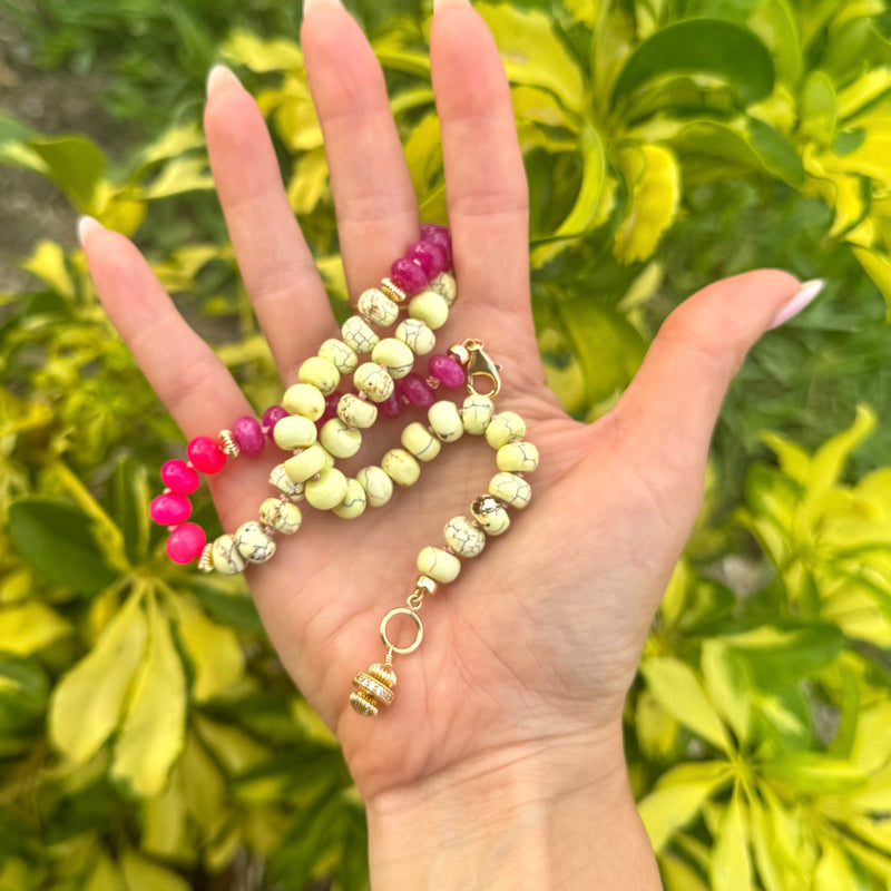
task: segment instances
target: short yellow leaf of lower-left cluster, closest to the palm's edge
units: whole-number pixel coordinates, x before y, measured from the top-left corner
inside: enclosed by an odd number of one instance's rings
[[[212,621],[186,597],[173,597],[170,604],[195,669],[195,701],[206,702],[237,684],[244,677],[244,654],[235,631]]]

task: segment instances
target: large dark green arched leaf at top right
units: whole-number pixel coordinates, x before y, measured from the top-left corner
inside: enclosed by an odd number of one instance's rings
[[[616,80],[613,105],[656,77],[684,72],[721,78],[743,102],[773,91],[773,59],[752,31],[721,19],[689,19],[660,29],[635,49]]]

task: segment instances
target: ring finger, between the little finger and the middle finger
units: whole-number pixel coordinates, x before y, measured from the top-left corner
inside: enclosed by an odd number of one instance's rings
[[[290,382],[333,316],[260,108],[223,66],[207,78],[204,130],[242,278],[278,373]]]

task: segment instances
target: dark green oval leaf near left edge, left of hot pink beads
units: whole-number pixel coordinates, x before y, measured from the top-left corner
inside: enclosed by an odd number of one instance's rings
[[[9,508],[10,537],[19,554],[53,584],[85,594],[117,578],[91,529],[89,516],[65,501],[29,497]]]

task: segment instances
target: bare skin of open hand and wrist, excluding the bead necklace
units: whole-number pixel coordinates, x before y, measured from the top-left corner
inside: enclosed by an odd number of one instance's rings
[[[356,23],[315,2],[301,38],[354,300],[417,239],[418,207]],[[527,185],[498,53],[462,2],[440,4],[430,41],[459,282],[438,351],[480,337],[502,364],[497,410],[519,412],[541,453],[531,505],[424,604],[423,645],[396,657],[396,703],[374,719],[350,708],[351,678],[382,659],[378,626],[411,593],[418,550],[440,545],[446,521],[486,490],[496,468],[484,442],[446,446],[417,487],[354,523],[305,512],[247,580],[284,665],[343,744],[369,809],[375,891],[658,888],[625,777],[623,702],[699,508],[726,385],[799,282],[757,271],[706,287],[667,320],[609,414],[567,419],[538,359]],[[286,386],[337,327],[261,114],[234,78],[212,81],[205,131]],[[252,413],[129,241],[92,229],[85,249],[109,316],[186,437]],[[376,425],[369,462],[402,425]],[[225,528],[267,497],[268,464],[239,460],[214,479]]]

